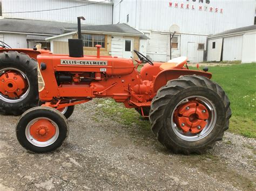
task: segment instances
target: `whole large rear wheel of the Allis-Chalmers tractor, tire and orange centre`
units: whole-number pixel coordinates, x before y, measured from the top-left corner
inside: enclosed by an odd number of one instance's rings
[[[223,138],[231,117],[224,90],[201,76],[182,76],[161,87],[150,121],[158,140],[174,153],[204,153]]]

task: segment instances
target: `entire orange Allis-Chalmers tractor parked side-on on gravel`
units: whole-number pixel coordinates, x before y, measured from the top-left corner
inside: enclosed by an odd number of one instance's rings
[[[207,70],[188,69],[185,57],[152,63],[138,51],[138,60],[100,56],[100,45],[97,56],[84,56],[80,36],[78,27],[78,39],[69,39],[69,55],[38,54],[41,106],[23,113],[16,126],[24,148],[43,153],[60,147],[74,105],[93,98],[113,98],[136,108],[149,117],[157,139],[174,153],[200,154],[223,138],[230,101]],[[69,115],[65,118],[58,110]]]

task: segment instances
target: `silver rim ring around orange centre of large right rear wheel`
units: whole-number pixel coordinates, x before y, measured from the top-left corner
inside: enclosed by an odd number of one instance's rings
[[[182,129],[180,129],[176,123],[174,122],[173,120],[173,115],[174,115],[174,112],[176,111],[176,109],[181,105],[181,104],[184,104],[184,103],[187,103],[189,101],[189,99],[196,99],[198,101],[200,101],[201,103],[203,103],[207,110],[208,110],[208,113],[209,113],[209,118],[207,121],[207,124],[206,126],[204,127],[204,129],[197,133],[197,134],[193,134],[193,133],[190,133],[190,132],[187,132],[187,133],[184,133],[182,131]],[[216,124],[216,121],[217,121],[217,113],[216,113],[216,108],[214,107],[212,101],[208,100],[207,98],[205,97],[201,97],[201,96],[191,96],[191,97],[188,97],[184,100],[181,100],[177,105],[176,107],[174,108],[174,110],[172,111],[172,115],[171,115],[171,126],[172,126],[172,129],[174,131],[174,133],[181,139],[183,140],[186,140],[186,141],[198,141],[200,139],[203,139],[205,138],[208,134],[210,134],[212,132],[212,129],[214,128],[215,124]]]

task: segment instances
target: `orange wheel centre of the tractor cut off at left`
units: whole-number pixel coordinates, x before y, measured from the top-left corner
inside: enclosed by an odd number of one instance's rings
[[[26,80],[23,76],[14,71],[4,73],[0,77],[0,93],[9,98],[16,98],[25,93]]]

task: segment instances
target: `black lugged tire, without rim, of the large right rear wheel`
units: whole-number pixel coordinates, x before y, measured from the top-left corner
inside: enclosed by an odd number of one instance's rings
[[[171,115],[180,101],[191,96],[205,97],[215,107],[217,120],[206,137],[187,141],[178,137],[171,126]],[[208,78],[202,76],[181,76],[170,80],[161,87],[152,100],[149,115],[152,131],[165,147],[174,153],[205,153],[216,141],[223,139],[231,118],[230,101],[224,90]]]

